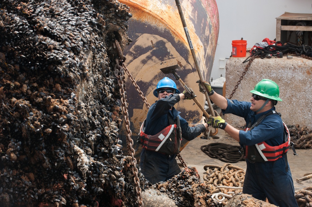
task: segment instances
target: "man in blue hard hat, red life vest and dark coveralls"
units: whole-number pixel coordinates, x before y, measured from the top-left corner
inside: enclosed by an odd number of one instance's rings
[[[181,172],[176,161],[182,137],[195,139],[208,127],[207,123],[190,127],[174,105],[181,99],[193,99],[194,92],[180,91],[173,80],[163,78],[153,94],[158,98],[147,113],[139,134],[142,144],[139,167],[152,184],[166,181]]]

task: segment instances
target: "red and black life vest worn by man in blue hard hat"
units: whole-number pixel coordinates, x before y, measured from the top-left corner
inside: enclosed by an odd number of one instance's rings
[[[146,120],[144,120],[143,124],[141,125],[139,134],[139,142],[142,144],[143,148],[145,148],[146,150],[169,155],[179,153],[182,136],[179,135],[180,134],[179,131],[181,131],[181,128],[179,127],[180,121],[178,117],[177,117],[178,126],[172,120],[174,124],[172,123],[171,125],[165,127],[155,135],[148,135],[144,133],[145,122]]]

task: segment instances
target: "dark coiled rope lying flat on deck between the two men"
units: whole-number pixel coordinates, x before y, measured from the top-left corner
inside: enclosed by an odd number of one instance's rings
[[[222,162],[236,163],[245,161],[244,155],[239,153],[241,147],[224,143],[210,143],[201,146],[201,150],[211,158],[217,158]]]

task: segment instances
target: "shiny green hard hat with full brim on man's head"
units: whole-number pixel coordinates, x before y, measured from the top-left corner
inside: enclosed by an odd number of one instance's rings
[[[262,79],[256,84],[255,89],[250,92],[268,99],[282,101],[279,97],[280,89],[278,85],[270,79]]]

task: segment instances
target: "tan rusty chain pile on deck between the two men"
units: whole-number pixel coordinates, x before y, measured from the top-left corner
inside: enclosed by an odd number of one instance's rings
[[[233,195],[242,192],[245,178],[245,171],[226,163],[223,166],[205,165],[206,174],[203,176],[207,188],[212,190],[212,198],[222,205],[227,205],[227,201]]]

